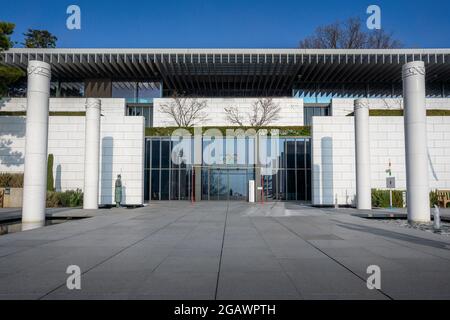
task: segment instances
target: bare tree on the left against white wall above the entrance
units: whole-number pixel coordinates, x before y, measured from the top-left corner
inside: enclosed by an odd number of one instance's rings
[[[169,115],[178,127],[192,127],[207,120],[205,112],[207,107],[206,100],[179,96],[175,93],[171,102],[160,105],[160,111]]]

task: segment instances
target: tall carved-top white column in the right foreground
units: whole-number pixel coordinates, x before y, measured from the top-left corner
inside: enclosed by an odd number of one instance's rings
[[[425,64],[406,63],[402,68],[406,190],[408,220],[430,221],[428,184],[427,116],[425,105]]]

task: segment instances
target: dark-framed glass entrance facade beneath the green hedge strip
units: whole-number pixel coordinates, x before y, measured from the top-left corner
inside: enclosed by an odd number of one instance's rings
[[[190,139],[190,138],[189,138]],[[191,140],[192,141],[192,140]],[[202,139],[202,165],[193,170],[193,144],[189,164],[173,161],[172,150],[178,141],[170,137],[147,138],[145,143],[145,200],[189,200],[196,195],[202,200],[247,200],[248,181],[261,179],[265,201],[311,200],[311,141],[310,138],[279,138],[276,144],[267,139],[268,154],[273,165],[270,172],[259,175],[254,165],[254,140],[251,137]],[[216,143],[216,148],[211,148]],[[278,152],[272,150],[274,146]],[[212,158],[215,161],[212,161]],[[218,160],[218,161],[217,161]],[[195,176],[195,172],[200,177]],[[195,190],[196,184],[200,190]]]

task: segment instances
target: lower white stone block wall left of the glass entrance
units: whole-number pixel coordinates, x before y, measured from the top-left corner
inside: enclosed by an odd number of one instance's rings
[[[102,114],[103,114],[102,110]],[[48,152],[54,155],[58,191],[83,188],[84,117],[49,118]],[[25,117],[0,117],[0,172],[23,172]],[[124,203],[143,203],[144,118],[107,116],[101,119],[99,201],[113,203],[113,185],[122,174]]]

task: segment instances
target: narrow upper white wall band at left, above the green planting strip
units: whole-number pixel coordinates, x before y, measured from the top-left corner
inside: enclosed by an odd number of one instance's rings
[[[103,98],[102,115],[124,116],[125,99]],[[50,111],[86,111],[86,98],[50,98]],[[26,98],[0,99],[0,111],[26,111]]]

